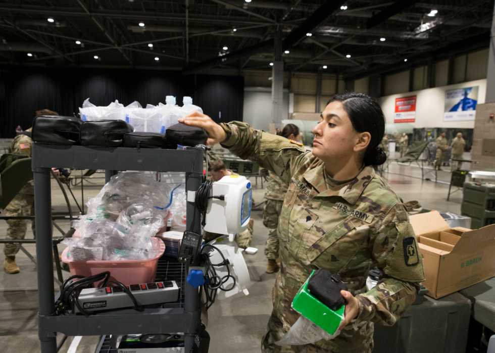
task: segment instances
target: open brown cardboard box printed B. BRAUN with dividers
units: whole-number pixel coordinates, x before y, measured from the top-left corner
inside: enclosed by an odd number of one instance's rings
[[[438,299],[495,276],[495,225],[450,228],[437,211],[409,220],[423,256],[427,295]]]

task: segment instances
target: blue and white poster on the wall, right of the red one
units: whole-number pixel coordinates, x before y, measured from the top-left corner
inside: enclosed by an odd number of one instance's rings
[[[443,121],[474,120],[478,103],[478,87],[445,91]]]

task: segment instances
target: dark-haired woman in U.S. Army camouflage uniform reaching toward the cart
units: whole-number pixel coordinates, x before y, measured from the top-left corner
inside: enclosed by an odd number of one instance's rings
[[[289,183],[278,224],[282,268],[262,351],[371,352],[373,324],[397,322],[424,280],[406,207],[372,167],[386,160],[378,147],[385,119],[376,100],[362,93],[337,94],[313,130],[312,153],[241,122],[219,126],[197,112],[179,121],[203,127],[207,143],[221,142]],[[367,290],[372,263],[383,277]],[[349,288],[341,291],[340,334],[302,346],[276,345],[300,317],[291,308],[296,292],[320,268],[338,273]]]

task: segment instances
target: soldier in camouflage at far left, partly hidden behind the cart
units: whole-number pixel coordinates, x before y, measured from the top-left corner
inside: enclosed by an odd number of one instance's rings
[[[52,112],[47,109],[36,112],[36,116],[39,115],[58,115],[56,112]],[[31,157],[31,150],[33,145],[33,140],[31,139],[31,129],[29,128],[26,132],[21,132],[12,141],[10,147],[11,153],[15,155],[22,155]],[[20,217],[20,216],[34,216],[34,182],[30,180],[23,186],[19,193],[10,201],[9,205],[5,208],[6,217]],[[8,239],[24,239],[26,236],[27,222],[26,220],[7,220],[9,227],[7,228],[7,238]],[[34,230],[34,220],[31,224],[31,229],[35,235]],[[5,262],[4,268],[5,272],[8,274],[19,273],[20,269],[16,264],[16,254],[19,248],[16,244],[5,244],[4,254]]]

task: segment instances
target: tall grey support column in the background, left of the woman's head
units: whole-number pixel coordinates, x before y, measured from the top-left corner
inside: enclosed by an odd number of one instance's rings
[[[272,67],[272,122],[281,127],[283,119],[283,61],[282,61],[282,27],[275,32],[275,61]],[[287,118],[287,117],[285,117]]]

